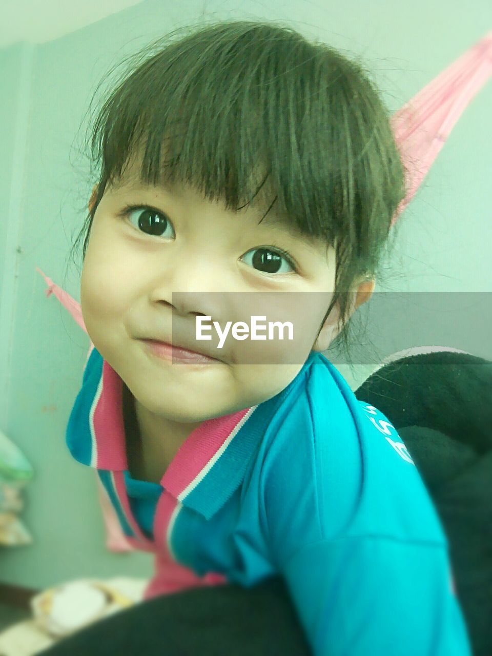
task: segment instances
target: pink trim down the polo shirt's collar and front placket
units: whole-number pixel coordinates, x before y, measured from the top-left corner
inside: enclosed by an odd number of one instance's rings
[[[207,420],[190,433],[162,477],[163,489],[155,510],[154,530],[152,537],[147,537],[133,514],[125,485],[127,456],[122,390],[123,381],[111,365],[103,360],[89,410],[91,457],[88,463],[86,459],[83,461],[92,467],[106,470],[108,474],[106,483],[112,488],[117,500],[113,510],[121,513],[124,525],[128,525],[133,533],[131,536],[123,534],[123,544],[127,550],[135,548],[154,554],[155,575],[144,597],[226,583],[222,574],[197,576],[192,569],[178,563],[172,552],[171,535],[182,504],[186,503],[188,495],[223,455],[256,406]],[[102,487],[102,493],[104,501],[108,501],[106,486]],[[111,518],[114,518],[114,514],[111,514]],[[119,550],[121,546],[118,544]]]

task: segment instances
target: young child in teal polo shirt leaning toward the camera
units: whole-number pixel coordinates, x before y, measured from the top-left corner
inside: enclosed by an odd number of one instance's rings
[[[361,66],[277,24],[192,30],[113,90],[92,148],[67,441],[154,552],[146,598],[280,575],[316,656],[469,654],[419,473],[321,354],[348,351],[405,195]],[[190,337],[252,309],[297,342]]]

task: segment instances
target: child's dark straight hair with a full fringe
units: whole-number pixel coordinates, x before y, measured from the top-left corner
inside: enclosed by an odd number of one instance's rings
[[[346,292],[377,277],[405,196],[390,115],[361,62],[278,22],[245,20],[174,30],[142,56],[92,126],[98,196],[73,248],[85,236],[85,258],[106,184],[143,144],[142,181],[178,180],[233,211],[258,203],[266,215],[276,204],[302,235],[335,247],[325,318],[338,302],[335,342],[350,361]]]

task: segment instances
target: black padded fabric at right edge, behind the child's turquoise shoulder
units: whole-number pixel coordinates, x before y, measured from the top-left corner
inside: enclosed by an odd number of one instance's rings
[[[475,656],[492,656],[492,362],[403,358],[356,391],[388,417],[434,501]]]

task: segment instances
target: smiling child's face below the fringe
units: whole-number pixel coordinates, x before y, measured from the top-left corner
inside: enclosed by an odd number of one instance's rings
[[[234,213],[188,187],[172,191],[144,187],[138,181],[138,166],[127,168],[121,184],[106,188],[92,222],[81,277],[81,308],[94,346],[136,400],[168,420],[201,422],[272,398],[295,378],[311,350],[325,350],[336,336],[337,308],[319,332],[335,286],[335,250],[327,251],[321,241],[289,234],[279,224],[269,225],[270,215],[258,224],[263,216],[259,209],[247,206]],[[95,188],[89,207],[94,199]],[[167,219],[166,223],[160,218],[167,227],[154,234],[144,222],[142,229],[144,209],[125,218],[121,216],[125,205],[154,207]],[[290,253],[297,271],[285,259],[277,273],[258,270],[258,249],[268,246],[273,252],[278,252],[277,246]],[[173,308],[173,292],[194,294],[184,295],[182,304]],[[294,363],[286,357],[292,348],[287,340],[249,340],[249,348],[261,348],[262,354],[262,363],[251,364],[244,359],[241,363],[244,342],[234,343],[230,335],[228,349],[220,352],[223,361],[207,365],[157,358],[142,341],[159,337],[170,342],[174,337],[178,343],[178,327],[195,329],[200,314],[211,316],[223,328],[226,321],[236,321],[227,314],[228,300],[246,298],[251,292],[262,293],[257,298],[277,292],[271,317],[268,304],[260,304],[260,312],[255,312],[266,316],[267,322],[276,320],[281,310],[285,316],[292,310],[296,295],[282,297],[282,293],[302,292],[298,298],[304,306],[296,308],[296,325],[302,331],[303,352]],[[203,350],[211,349],[211,342],[203,344]],[[214,356],[217,353],[209,350]]]

